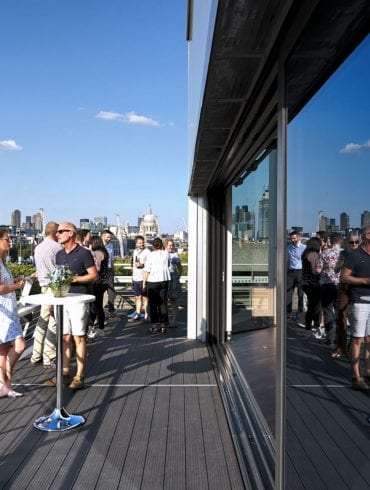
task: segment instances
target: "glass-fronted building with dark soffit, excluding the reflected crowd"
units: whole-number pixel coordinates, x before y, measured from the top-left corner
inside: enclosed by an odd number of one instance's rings
[[[368,485],[369,406],[287,317],[286,249],[292,229],[365,223],[369,21],[363,0],[188,1],[188,335],[214,357],[247,488]]]

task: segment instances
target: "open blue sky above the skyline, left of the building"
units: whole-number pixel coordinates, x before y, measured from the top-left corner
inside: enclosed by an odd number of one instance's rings
[[[0,224],[187,220],[185,0],[1,0]]]

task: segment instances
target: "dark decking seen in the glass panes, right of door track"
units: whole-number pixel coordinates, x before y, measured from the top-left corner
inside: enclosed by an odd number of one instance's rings
[[[233,337],[233,352],[274,430],[275,329]],[[351,389],[348,358],[295,321],[287,325],[287,490],[370,488],[370,390]],[[265,388],[265,389],[264,389]]]

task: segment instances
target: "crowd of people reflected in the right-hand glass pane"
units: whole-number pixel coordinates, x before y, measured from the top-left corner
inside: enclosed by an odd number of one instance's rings
[[[328,237],[320,231],[306,243],[298,232],[292,231],[287,266],[288,318],[293,317],[296,290],[298,310],[294,319],[317,339],[333,346],[333,358],[350,359],[353,389],[369,390],[370,226],[362,229],[361,236],[350,232],[346,240],[339,233]]]

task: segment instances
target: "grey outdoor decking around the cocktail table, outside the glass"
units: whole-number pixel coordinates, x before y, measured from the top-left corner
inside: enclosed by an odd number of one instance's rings
[[[207,347],[185,327],[148,333],[126,317],[89,344],[86,387],[64,407],[86,417],[65,432],[33,421],[55,407],[52,372],[16,366],[25,396],[0,400],[0,488],[242,489]]]

